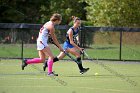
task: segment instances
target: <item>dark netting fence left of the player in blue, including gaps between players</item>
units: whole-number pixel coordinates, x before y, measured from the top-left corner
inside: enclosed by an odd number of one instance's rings
[[[0,23],[0,58],[34,58],[38,57],[36,40],[39,24],[6,24]],[[56,26],[56,36],[61,44],[65,41],[67,26]],[[53,54],[59,54],[59,49],[49,44]]]

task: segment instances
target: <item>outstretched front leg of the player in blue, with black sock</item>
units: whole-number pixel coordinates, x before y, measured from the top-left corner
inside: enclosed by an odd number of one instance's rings
[[[67,52],[69,52],[69,53],[73,54],[74,56],[76,56],[77,65],[78,65],[78,68],[80,70],[80,74],[83,74],[83,73],[85,73],[85,72],[87,72],[89,70],[89,68],[83,68],[80,53],[77,52],[77,49],[75,47],[74,48],[68,48]]]

